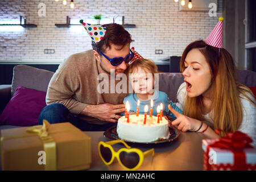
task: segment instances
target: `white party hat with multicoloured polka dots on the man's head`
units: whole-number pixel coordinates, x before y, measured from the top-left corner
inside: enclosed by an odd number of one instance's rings
[[[84,23],[82,19],[80,20],[80,23],[84,26],[94,43],[99,43],[106,33],[106,27]]]

